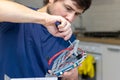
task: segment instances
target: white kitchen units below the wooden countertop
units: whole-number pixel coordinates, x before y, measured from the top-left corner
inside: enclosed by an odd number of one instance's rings
[[[96,80],[120,79],[120,46],[92,42],[81,42],[80,47],[95,56],[97,60]],[[98,55],[99,54],[99,55]],[[98,59],[97,59],[98,58]]]

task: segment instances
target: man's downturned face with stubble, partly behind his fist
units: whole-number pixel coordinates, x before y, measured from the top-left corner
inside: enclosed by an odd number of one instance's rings
[[[53,0],[54,1],[54,0]],[[48,13],[52,15],[60,15],[69,22],[72,22],[76,16],[80,15],[83,10],[76,6],[77,4],[71,0],[57,0],[48,5]]]

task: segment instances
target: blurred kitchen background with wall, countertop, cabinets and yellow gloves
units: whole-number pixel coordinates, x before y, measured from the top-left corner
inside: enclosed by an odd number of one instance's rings
[[[42,0],[14,1],[35,8],[43,5]],[[72,23],[79,47],[90,55],[86,69],[80,69],[82,80],[120,79],[119,23],[120,0],[93,0],[90,9]]]

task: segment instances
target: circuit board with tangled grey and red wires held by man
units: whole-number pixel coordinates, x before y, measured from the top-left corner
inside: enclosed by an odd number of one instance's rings
[[[49,76],[59,77],[65,71],[69,71],[79,66],[86,58],[87,54],[85,51],[78,47],[79,40],[75,40],[72,44],[73,45],[70,45],[60,52],[61,54],[55,59]]]

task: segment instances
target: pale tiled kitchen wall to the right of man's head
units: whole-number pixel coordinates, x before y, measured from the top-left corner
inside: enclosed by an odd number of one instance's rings
[[[91,8],[83,14],[82,19],[88,31],[118,31],[120,0],[93,0]]]

